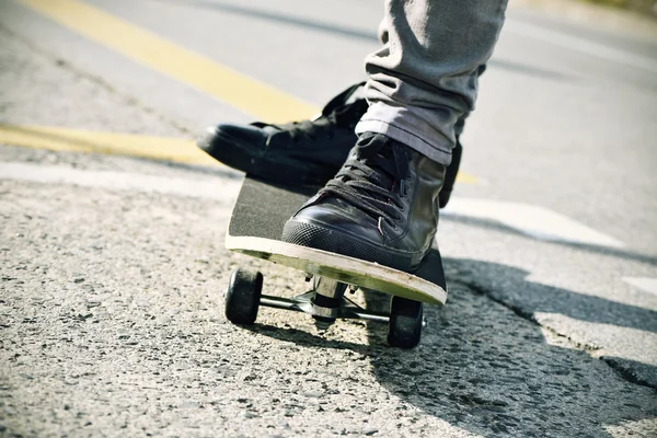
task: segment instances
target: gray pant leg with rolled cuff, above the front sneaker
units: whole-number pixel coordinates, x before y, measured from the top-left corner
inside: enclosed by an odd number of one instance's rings
[[[384,134],[449,164],[454,125],[474,110],[477,73],[493,54],[506,5],[385,0],[388,42],[366,58],[370,106],[356,132]]]

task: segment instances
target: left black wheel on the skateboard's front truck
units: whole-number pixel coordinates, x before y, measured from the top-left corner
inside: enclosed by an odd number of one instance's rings
[[[261,296],[263,275],[246,269],[235,269],[226,292],[226,318],[234,324],[249,325],[255,322]]]

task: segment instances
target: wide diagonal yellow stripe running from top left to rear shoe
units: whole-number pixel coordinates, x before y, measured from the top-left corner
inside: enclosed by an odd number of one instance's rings
[[[270,123],[309,118],[318,107],[76,0],[19,0],[36,12],[163,74]]]

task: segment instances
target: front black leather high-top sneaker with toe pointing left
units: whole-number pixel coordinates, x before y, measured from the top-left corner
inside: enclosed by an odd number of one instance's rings
[[[335,178],[284,228],[283,241],[413,272],[438,227],[446,166],[366,132]]]

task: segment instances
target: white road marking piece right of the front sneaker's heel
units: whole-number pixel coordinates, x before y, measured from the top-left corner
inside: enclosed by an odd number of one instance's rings
[[[529,204],[452,198],[441,212],[498,222],[539,240],[622,247],[623,242],[566,216]]]

